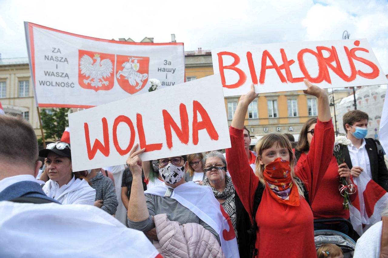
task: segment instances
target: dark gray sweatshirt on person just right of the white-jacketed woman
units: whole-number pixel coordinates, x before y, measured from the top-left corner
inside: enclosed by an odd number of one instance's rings
[[[99,172],[95,177],[90,179],[90,184],[96,190],[95,201],[102,200],[101,209],[114,215],[117,210],[118,201],[112,179]]]

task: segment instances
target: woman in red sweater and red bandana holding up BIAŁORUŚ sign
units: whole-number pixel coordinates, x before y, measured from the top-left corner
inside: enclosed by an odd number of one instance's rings
[[[334,130],[326,91],[305,81],[304,93],[318,98],[316,137],[309,157],[301,162],[298,177],[314,200],[316,189],[333,155]],[[232,147],[226,150],[228,170],[237,194],[251,221],[258,184],[264,192],[256,212],[255,248],[258,257],[316,257],[313,214],[294,178],[294,155],[289,140],[278,133],[267,134],[255,146],[256,175],[249,166],[244,148],[244,120],[251,101],[257,98],[253,85],[242,95],[230,126]]]

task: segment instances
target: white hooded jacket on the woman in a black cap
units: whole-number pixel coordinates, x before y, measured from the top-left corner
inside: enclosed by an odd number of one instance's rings
[[[62,204],[88,204],[94,205],[96,191],[85,179],[76,179],[74,176],[61,187],[51,179],[43,186],[43,192],[50,198]]]

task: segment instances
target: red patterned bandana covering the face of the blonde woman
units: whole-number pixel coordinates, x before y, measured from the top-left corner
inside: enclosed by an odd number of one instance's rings
[[[286,205],[299,206],[298,187],[293,187],[289,161],[275,159],[265,166],[263,175],[269,193],[275,200]]]

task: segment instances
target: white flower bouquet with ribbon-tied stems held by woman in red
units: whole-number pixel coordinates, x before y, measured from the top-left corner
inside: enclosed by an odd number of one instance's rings
[[[347,148],[348,145],[352,144],[352,142],[347,139],[345,136],[337,136],[334,139],[334,157],[337,159],[338,165],[341,165],[342,163],[345,162],[345,157],[342,154],[343,148]],[[338,187],[340,190],[341,195],[343,196],[343,206],[346,210],[349,210],[349,204],[350,198],[349,194],[352,194],[353,191],[353,185],[349,185],[346,182],[345,177],[341,177],[341,184],[340,187]],[[348,192],[348,189],[350,189],[350,193]]]

